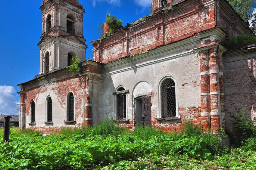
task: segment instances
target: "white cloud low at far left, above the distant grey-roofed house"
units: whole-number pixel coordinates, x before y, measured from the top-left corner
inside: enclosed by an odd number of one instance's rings
[[[2,114],[17,114],[19,111],[18,102],[14,97],[14,90],[13,86],[1,86],[0,85],[0,113]]]

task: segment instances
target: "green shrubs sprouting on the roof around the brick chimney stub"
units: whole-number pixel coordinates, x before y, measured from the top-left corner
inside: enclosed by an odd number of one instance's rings
[[[105,36],[109,36],[112,33],[114,33],[115,31],[123,28],[123,20],[118,19],[116,16],[112,16],[109,11],[106,14],[106,20],[105,22],[108,24],[109,26],[109,32],[105,35]],[[100,23],[99,28],[98,28],[98,32],[99,32],[99,38],[102,39],[104,38],[104,23]]]

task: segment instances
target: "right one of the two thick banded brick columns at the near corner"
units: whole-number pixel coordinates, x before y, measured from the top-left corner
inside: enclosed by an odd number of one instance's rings
[[[211,131],[219,132],[220,130],[220,79],[219,79],[219,56],[217,48],[210,51],[210,95],[211,95]]]

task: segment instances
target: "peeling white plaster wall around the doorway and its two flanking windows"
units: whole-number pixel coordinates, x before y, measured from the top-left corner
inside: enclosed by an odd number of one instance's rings
[[[176,55],[179,55],[176,54]],[[174,56],[173,58],[170,56]],[[136,57],[136,56],[135,56]],[[168,59],[169,58],[169,59]],[[158,113],[159,82],[165,76],[172,76],[178,83],[179,108],[200,107],[200,61],[195,52],[184,53],[183,57],[158,54],[143,60],[125,65],[109,67],[103,71],[102,88],[99,91],[101,107],[98,117],[115,117],[115,96],[112,94],[119,85],[123,85],[130,93],[127,94],[127,119],[132,118],[133,99],[138,95],[148,95],[150,89],[155,93],[152,97],[152,111]],[[139,84],[134,91],[133,89]],[[98,119],[98,123],[101,122]]]

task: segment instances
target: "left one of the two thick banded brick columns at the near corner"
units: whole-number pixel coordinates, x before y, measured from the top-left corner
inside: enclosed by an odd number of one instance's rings
[[[210,76],[208,51],[200,51],[201,124],[203,130],[211,125],[210,117]]]

